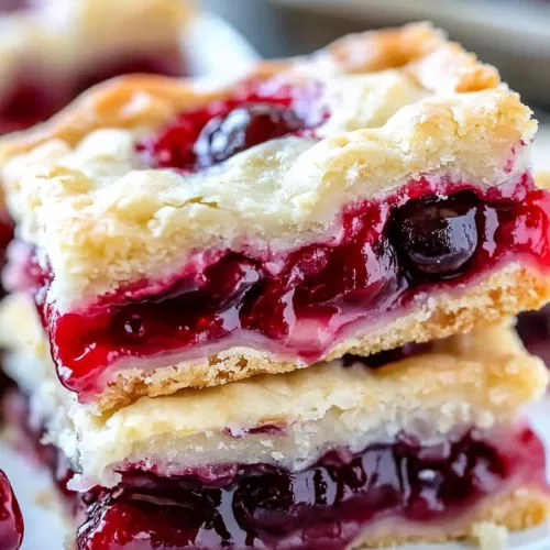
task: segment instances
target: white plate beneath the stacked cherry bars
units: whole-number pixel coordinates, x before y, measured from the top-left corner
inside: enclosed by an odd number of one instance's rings
[[[550,455],[550,398],[531,407],[529,418],[537,432],[544,440]],[[43,495],[48,487],[47,474],[25,463],[21,457],[0,446],[0,468],[13,484],[25,517],[23,550],[62,550],[65,537],[63,522],[53,508],[54,499],[46,499],[51,509],[36,504],[36,495]],[[550,469],[547,469],[550,481]],[[44,499],[42,499],[44,501]],[[46,505],[47,506],[47,505]],[[406,546],[399,550],[465,550],[466,544],[420,544]],[[508,540],[509,550],[548,550],[550,548],[550,521],[529,531],[513,534]]]

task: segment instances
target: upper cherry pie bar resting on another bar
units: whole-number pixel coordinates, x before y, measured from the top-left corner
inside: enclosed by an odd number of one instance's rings
[[[429,25],[116,79],[3,141],[4,279],[99,410],[466,332],[550,297],[530,114]]]

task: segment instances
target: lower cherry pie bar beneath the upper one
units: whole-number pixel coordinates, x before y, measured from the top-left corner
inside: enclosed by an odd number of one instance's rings
[[[21,387],[35,371],[29,417],[78,550],[485,540],[548,516],[543,447],[519,413],[548,371],[510,321],[100,416],[56,380],[28,298],[0,321]]]

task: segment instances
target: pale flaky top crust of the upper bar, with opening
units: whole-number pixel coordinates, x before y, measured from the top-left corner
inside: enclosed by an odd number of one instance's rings
[[[122,78],[2,142],[10,211],[47,257],[58,305],[166,277],[205,249],[326,241],[346,205],[411,179],[515,180],[536,130],[494,67],[428,25],[263,63],[245,82]],[[140,154],[144,136],[251,82],[263,97],[294,90],[315,130],[191,173],[151,168]]]

